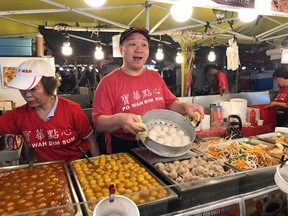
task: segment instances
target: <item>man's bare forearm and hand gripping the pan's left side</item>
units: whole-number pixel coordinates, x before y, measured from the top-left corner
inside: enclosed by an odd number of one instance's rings
[[[95,127],[99,132],[115,132],[123,130],[125,133],[136,134],[143,131],[143,128],[137,126],[135,123],[140,119],[133,113],[117,113],[114,115],[100,115],[97,118]]]

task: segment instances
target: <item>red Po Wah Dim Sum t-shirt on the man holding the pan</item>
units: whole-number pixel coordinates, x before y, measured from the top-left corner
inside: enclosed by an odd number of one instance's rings
[[[116,69],[103,77],[94,94],[93,122],[99,115],[134,113],[143,116],[154,109],[166,109],[176,96],[168,89],[162,77],[153,70],[144,69],[139,76],[130,76]],[[135,140],[123,131],[113,133],[124,140]]]

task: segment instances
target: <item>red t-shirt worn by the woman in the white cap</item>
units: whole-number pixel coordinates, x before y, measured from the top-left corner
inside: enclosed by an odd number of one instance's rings
[[[0,134],[20,134],[29,147],[35,149],[37,161],[71,160],[81,158],[76,148],[88,151],[82,140],[93,132],[79,104],[58,97],[54,116],[43,121],[34,108],[25,104],[0,116]]]

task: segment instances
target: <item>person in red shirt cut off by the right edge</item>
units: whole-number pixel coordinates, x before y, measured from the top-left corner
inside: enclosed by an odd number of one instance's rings
[[[273,73],[273,78],[279,86],[279,91],[274,99],[266,107],[277,109],[277,126],[288,126],[288,69],[285,66],[277,68]]]

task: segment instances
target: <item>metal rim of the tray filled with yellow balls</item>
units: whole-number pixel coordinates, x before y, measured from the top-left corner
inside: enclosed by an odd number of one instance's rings
[[[156,204],[159,204],[161,203],[161,206],[166,203],[168,203],[168,201],[171,201],[171,200],[175,200],[178,198],[178,195],[171,189],[169,188],[163,181],[161,181],[155,174],[153,174],[150,170],[148,170],[147,168],[145,168],[145,166],[142,165],[142,163],[140,161],[138,161],[133,155],[129,154],[129,153],[117,153],[117,154],[127,154],[129,155],[136,163],[138,163],[142,168],[145,169],[145,171],[147,171],[158,183],[160,183],[160,185],[162,186],[162,188],[165,188],[165,190],[168,192],[168,195],[165,197],[165,198],[161,198],[161,199],[156,199],[156,200],[153,200],[153,201],[148,201],[148,202],[145,202],[145,203],[142,203],[142,204],[137,204],[137,206],[140,208],[144,208],[146,206],[154,206]],[[117,154],[114,154],[114,155],[117,155]],[[90,161],[93,162],[93,159],[96,159],[96,158],[100,158],[101,156],[98,156],[98,157],[90,157]],[[76,183],[76,188],[78,189],[79,193],[80,193],[80,199],[84,202],[84,207],[85,207],[85,211],[86,211],[86,214],[88,216],[92,216],[93,215],[93,211],[89,208],[89,205],[88,205],[88,201],[86,196],[85,196],[85,193],[83,191],[83,188],[80,184],[80,181],[79,181],[79,178],[76,174],[76,171],[74,169],[74,166],[73,164],[74,163],[77,163],[77,162],[86,162],[88,163],[87,159],[78,159],[78,160],[74,160],[72,162],[70,162],[69,166],[71,168],[71,172],[72,172],[72,176],[74,177],[74,180],[75,180],[75,183]],[[129,178],[129,177],[128,177]],[[128,179],[127,178],[127,179]],[[129,179],[128,179],[129,180]],[[116,184],[116,191],[117,191],[117,184]],[[159,188],[158,188],[159,189]],[[153,190],[153,189],[151,189]],[[140,192],[140,191],[139,191]],[[122,194],[122,195],[126,195],[126,194]],[[127,194],[128,195],[128,194]],[[92,200],[90,200],[91,202]],[[95,200],[97,202],[97,200]],[[141,209],[140,209],[141,210]]]

